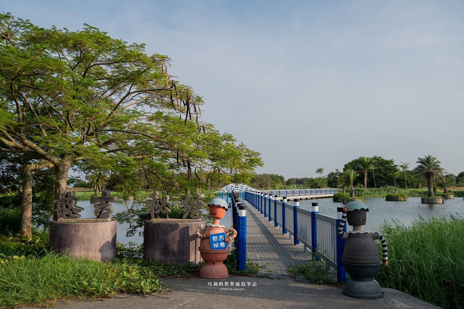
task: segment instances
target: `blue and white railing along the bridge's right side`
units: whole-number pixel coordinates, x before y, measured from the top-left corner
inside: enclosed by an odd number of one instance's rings
[[[313,190],[312,194],[316,194],[314,190],[318,190],[317,194],[325,194],[325,189],[307,190]],[[330,190],[330,193],[327,192],[327,194],[338,192],[338,189],[327,190]],[[337,191],[334,192],[333,190]],[[269,190],[269,193],[274,193],[271,196],[266,191],[264,191],[266,193],[245,191],[244,199],[256,208],[260,214],[263,214],[265,218],[273,221],[275,227],[281,228],[282,233],[288,233],[293,236],[293,243],[295,245],[302,244],[305,251],[306,249],[311,250],[312,259],[322,259],[325,263],[336,269],[338,282],[347,281],[348,274],[342,264],[342,255],[346,240],[342,240],[337,235],[343,208],[337,208],[337,218],[319,214],[317,203],[312,203],[311,211],[301,209],[298,199],[294,199],[294,202],[291,204],[287,203],[286,199],[282,199],[282,202],[278,200],[280,196],[278,194],[285,191]],[[301,193],[297,192],[298,189],[295,190],[296,192],[291,191],[293,190],[288,190],[288,196],[298,196],[298,194],[310,195],[303,194],[304,189],[301,189]],[[287,195],[282,196],[287,197]],[[346,232],[346,225],[344,226],[344,231]]]

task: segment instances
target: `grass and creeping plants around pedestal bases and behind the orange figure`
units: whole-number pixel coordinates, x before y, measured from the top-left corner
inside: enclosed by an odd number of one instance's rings
[[[157,294],[165,291],[167,277],[195,276],[201,264],[158,264],[140,259],[143,246],[118,243],[114,263],[71,259],[48,252],[43,238],[0,236],[0,308],[52,307],[59,300],[111,297],[116,293]],[[225,264],[230,273],[256,275],[262,268],[248,260],[236,271],[235,250]]]

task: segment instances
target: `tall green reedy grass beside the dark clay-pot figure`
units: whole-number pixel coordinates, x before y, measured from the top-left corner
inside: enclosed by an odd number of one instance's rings
[[[420,218],[408,227],[385,222],[380,231],[387,239],[389,258],[375,277],[382,287],[448,308],[447,281],[452,280],[458,303],[456,291],[464,284],[463,217]]]

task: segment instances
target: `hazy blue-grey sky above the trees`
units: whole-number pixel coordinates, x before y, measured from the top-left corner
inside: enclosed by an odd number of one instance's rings
[[[463,1],[9,1],[34,25],[89,24],[203,97],[203,120],[262,154],[258,173],[316,177],[361,156],[464,171]]]

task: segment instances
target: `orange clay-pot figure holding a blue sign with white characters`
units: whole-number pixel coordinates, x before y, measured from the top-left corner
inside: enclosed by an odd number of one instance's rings
[[[209,216],[213,224],[202,225],[197,228],[200,241],[200,255],[205,260],[201,266],[200,277],[219,279],[229,277],[226,265],[223,264],[229,254],[227,243],[234,240],[237,231],[231,227],[219,225],[219,219],[224,218],[229,206],[221,198],[213,198],[209,204]],[[200,232],[203,231],[203,234]]]

